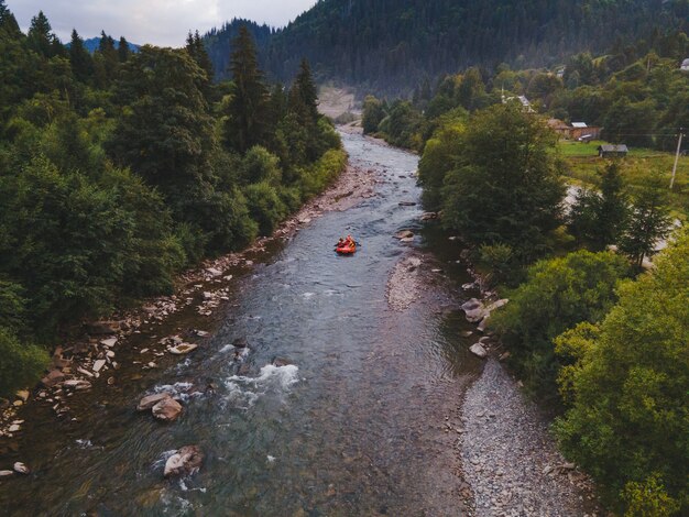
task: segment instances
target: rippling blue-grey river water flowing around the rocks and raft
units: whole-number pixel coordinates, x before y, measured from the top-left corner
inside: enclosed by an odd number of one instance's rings
[[[57,421],[31,405],[19,440],[0,443],[0,468],[20,460],[32,469],[0,482],[1,514],[464,513],[458,436],[446,420],[457,417],[480,369],[459,338],[469,327],[455,309],[466,273],[455,244],[418,222],[420,208],[400,205],[418,201],[418,158],[361,135],[342,139],[351,163],[378,176],[375,196],[256,256],[231,280],[212,337],[182,362],[162,359],[143,375],[134,363],[145,340],[175,326],[198,328],[181,316],[118,351],[114,387],[99,383],[75,395],[79,421]],[[412,245],[392,238],[405,228],[418,233]],[[362,243],[354,256],[332,253],[346,233]],[[393,310],[389,278],[409,253],[424,258],[426,287],[409,308]],[[250,346],[239,361],[238,338]],[[275,358],[292,364],[274,366]],[[197,388],[209,384],[214,391]],[[172,425],[134,409],[163,389],[184,400]],[[201,471],[164,480],[169,451],[185,444],[204,450]]]

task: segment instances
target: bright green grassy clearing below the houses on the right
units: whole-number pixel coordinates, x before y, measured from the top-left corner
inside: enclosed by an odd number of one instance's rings
[[[565,174],[578,184],[595,184],[599,170],[605,163],[598,157],[598,146],[605,143],[559,142],[558,152],[567,164]],[[630,154],[623,163],[625,165],[623,174],[630,185],[638,185],[647,174],[657,170],[667,179],[669,188],[675,154],[648,148],[630,148]],[[670,193],[670,207],[680,219],[689,218],[689,156],[679,157],[675,188]]]

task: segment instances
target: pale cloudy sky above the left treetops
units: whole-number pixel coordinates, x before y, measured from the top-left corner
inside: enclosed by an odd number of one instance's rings
[[[183,46],[189,30],[204,34],[232,18],[286,25],[316,0],[6,0],[24,32],[43,11],[66,43],[72,30],[87,40],[106,31],[136,44]]]

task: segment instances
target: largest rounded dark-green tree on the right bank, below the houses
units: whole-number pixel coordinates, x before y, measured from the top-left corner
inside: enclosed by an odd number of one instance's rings
[[[512,105],[475,113],[445,176],[444,222],[471,244],[506,244],[529,262],[560,224],[565,187],[543,121]]]

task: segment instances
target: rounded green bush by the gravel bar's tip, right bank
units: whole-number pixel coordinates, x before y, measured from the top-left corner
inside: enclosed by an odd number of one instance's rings
[[[557,393],[565,363],[555,355],[553,340],[582,321],[599,321],[615,301],[615,285],[626,273],[623,258],[586,250],[528,268],[510,304],[491,316],[491,327],[510,345],[513,365],[531,389],[546,398]]]

